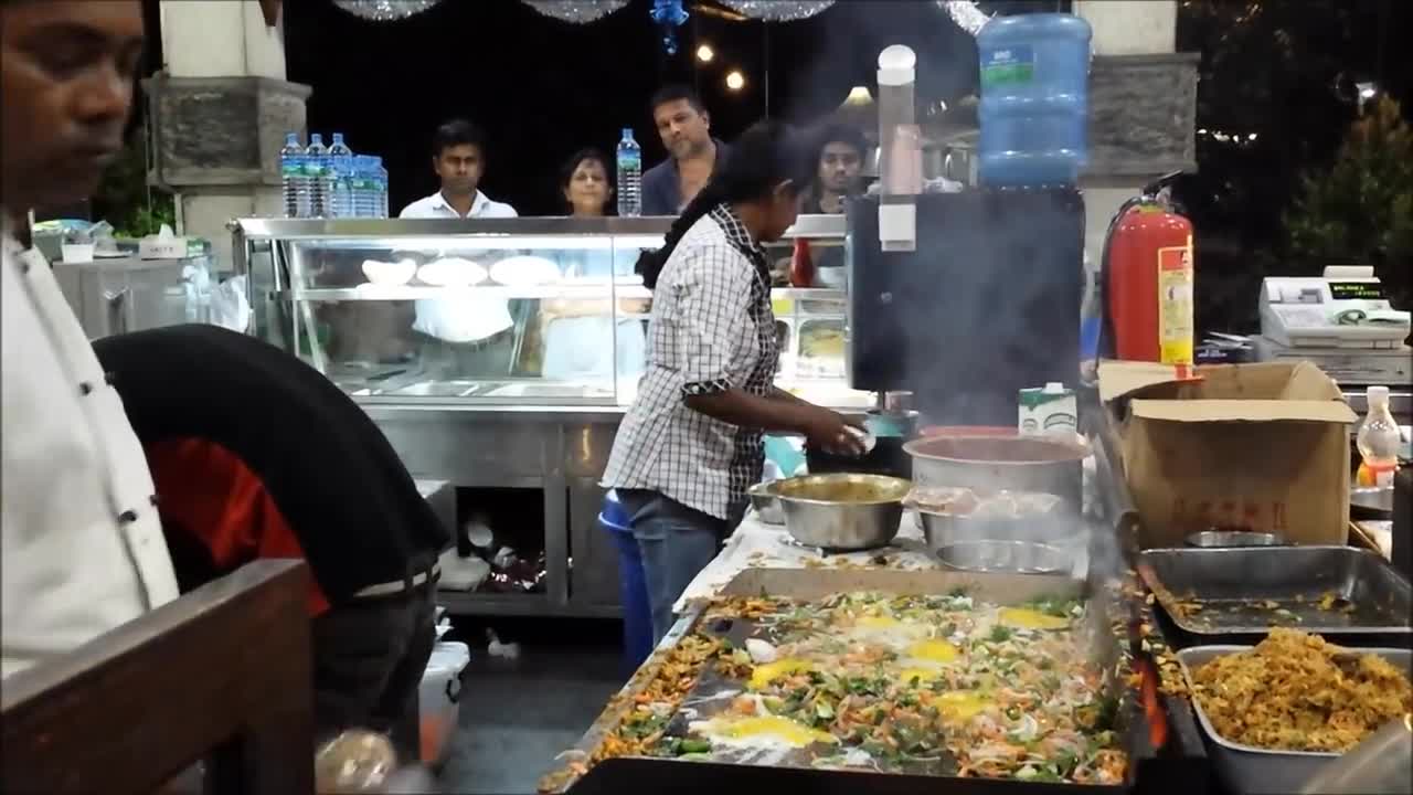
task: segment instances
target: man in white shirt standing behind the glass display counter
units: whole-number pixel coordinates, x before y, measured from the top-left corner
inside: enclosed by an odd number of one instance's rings
[[[407,205],[398,218],[516,218],[516,208],[492,201],[478,188],[486,173],[486,137],[476,124],[455,119],[437,129],[432,170],[441,190]],[[441,371],[444,378],[510,375],[514,318],[506,298],[466,294],[418,300],[413,331],[427,342],[424,366]]]

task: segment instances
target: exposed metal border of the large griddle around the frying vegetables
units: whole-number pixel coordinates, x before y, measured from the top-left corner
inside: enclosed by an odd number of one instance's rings
[[[1081,596],[1087,584],[1070,577],[1022,576],[1022,574],[978,574],[962,571],[885,571],[885,570],[793,570],[793,569],[750,569],[742,571],[723,590],[723,596],[780,596],[804,600],[822,598],[841,591],[889,591],[897,594],[947,593],[965,587],[972,594],[1000,604],[1016,604],[1040,596]],[[1105,604],[1101,601],[1101,604]],[[725,632],[728,637],[743,627],[725,622],[714,627],[702,624],[706,605],[692,608],[682,617],[654,652],[666,654],[681,638],[702,631]],[[1122,654],[1112,635],[1111,617],[1104,610],[1088,614],[1094,631],[1088,634],[1095,644],[1098,659],[1113,659],[1109,655]],[[739,639],[739,638],[733,638]],[[634,675],[623,690],[610,702],[579,743],[561,758],[586,758],[632,709],[633,697],[646,687],[653,676],[653,659]],[[1137,695],[1128,687],[1126,678],[1113,676],[1116,665],[1105,662],[1106,682],[1118,687],[1119,731],[1130,755],[1129,782],[1126,785],[1081,785],[1043,784],[1019,779],[957,778],[950,775],[928,775],[913,772],[870,772],[852,770],[814,770],[793,765],[731,764],[722,761],[684,761],[647,757],[619,757],[605,760],[592,767],[588,774],[560,781],[548,792],[569,795],[598,795],[601,792],[636,792],[673,789],[674,792],[721,792],[732,791],[784,791],[804,789],[808,792],[848,792],[851,795],[892,795],[924,792],[945,788],[954,795],[969,794],[1036,794],[1036,792],[1142,792],[1173,795],[1202,795],[1207,791],[1210,768],[1198,740],[1191,713],[1178,719],[1169,713],[1171,740],[1164,750],[1154,750],[1147,743],[1149,729]],[[694,687],[694,692],[702,686]],[[695,695],[695,693],[694,693]],[[692,699],[688,695],[687,699]],[[1190,727],[1190,729],[1188,729]],[[688,767],[690,765],[690,767]],[[545,789],[543,789],[545,791]]]

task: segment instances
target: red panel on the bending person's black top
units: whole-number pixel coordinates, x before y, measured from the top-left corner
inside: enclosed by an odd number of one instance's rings
[[[147,446],[162,523],[195,535],[220,571],[261,557],[304,559],[304,547],[260,482],[236,454],[202,439]],[[309,580],[309,615],[329,608]]]

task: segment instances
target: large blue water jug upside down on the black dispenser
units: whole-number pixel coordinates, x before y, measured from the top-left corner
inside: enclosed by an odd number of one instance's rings
[[[1078,181],[1089,160],[1091,37],[1074,14],[993,17],[976,35],[982,184]]]

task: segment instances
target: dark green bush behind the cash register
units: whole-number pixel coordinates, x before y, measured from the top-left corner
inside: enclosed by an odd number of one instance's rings
[[[1409,308],[1413,127],[1397,102],[1371,102],[1349,126],[1334,164],[1300,180],[1286,232],[1289,265],[1372,265],[1393,304]]]

